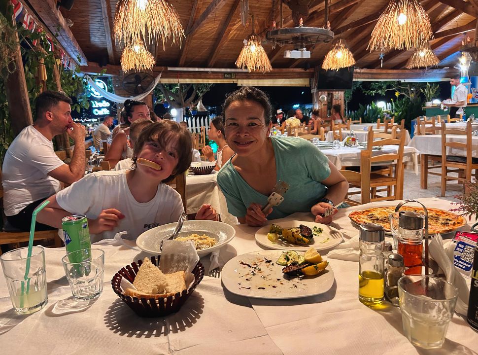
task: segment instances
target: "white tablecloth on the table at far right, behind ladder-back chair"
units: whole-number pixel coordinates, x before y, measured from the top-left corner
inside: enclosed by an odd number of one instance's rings
[[[446,135],[447,142],[466,142],[464,135]],[[442,155],[442,136],[441,135],[424,135],[413,136],[409,147],[416,148],[420,154]],[[447,148],[446,155],[466,156],[466,150]],[[478,157],[478,137],[472,137],[472,155]]]

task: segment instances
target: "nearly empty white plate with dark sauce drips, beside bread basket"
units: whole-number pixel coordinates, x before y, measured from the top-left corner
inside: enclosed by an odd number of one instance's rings
[[[287,299],[325,293],[334,284],[334,272],[330,264],[317,276],[288,280],[287,276],[282,274],[283,266],[275,263],[281,253],[280,250],[261,250],[236,256],[222,268],[223,286],[240,296]],[[266,262],[266,259],[271,262]],[[253,268],[245,264],[257,266],[255,275],[251,274]]]

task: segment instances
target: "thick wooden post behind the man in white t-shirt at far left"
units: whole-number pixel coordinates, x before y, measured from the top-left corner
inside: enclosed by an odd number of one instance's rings
[[[25,80],[25,69],[20,52],[18,33],[11,31],[10,35],[17,41],[17,49],[14,60],[10,63],[9,74],[5,80],[6,98],[9,108],[9,117],[13,134],[17,136],[25,127],[33,124],[32,110],[28,96],[27,82]]]

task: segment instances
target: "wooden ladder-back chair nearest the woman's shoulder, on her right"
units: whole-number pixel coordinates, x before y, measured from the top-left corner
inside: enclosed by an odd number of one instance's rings
[[[369,130],[367,149],[360,152],[360,172],[341,170],[342,175],[347,179],[350,187],[360,188],[361,203],[382,200],[401,200],[403,198],[403,151],[405,146],[405,135],[400,140],[386,138],[374,142],[375,133]],[[374,146],[398,145],[397,153],[387,153],[372,156]],[[390,165],[389,169],[372,171],[374,165]],[[385,187],[377,190],[378,187]],[[392,194],[393,187],[393,194]],[[376,193],[387,191],[386,196],[378,196]],[[354,193],[349,193],[349,195]]]

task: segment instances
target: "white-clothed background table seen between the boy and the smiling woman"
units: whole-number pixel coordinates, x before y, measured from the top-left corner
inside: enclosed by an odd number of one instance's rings
[[[217,174],[187,175],[186,176],[186,213],[193,214],[199,211],[203,204],[210,204],[221,220],[227,224],[238,224],[238,218],[227,210],[224,194],[217,185]]]

